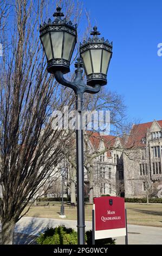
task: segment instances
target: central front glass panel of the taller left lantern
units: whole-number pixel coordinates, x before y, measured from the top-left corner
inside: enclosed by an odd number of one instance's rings
[[[53,44],[54,58],[61,59],[63,32],[51,32],[51,41]]]

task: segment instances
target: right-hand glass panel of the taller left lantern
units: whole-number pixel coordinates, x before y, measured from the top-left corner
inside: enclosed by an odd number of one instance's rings
[[[63,59],[70,61],[75,46],[75,36],[67,32],[64,34]]]

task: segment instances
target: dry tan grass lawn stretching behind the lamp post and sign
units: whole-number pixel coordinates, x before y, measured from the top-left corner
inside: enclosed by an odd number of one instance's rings
[[[61,203],[50,202],[49,208],[44,208],[43,204],[39,203],[38,206],[33,206],[27,215],[30,217],[40,218],[59,218],[59,212]],[[53,205],[54,204],[54,205]],[[92,220],[92,205],[87,205],[85,208],[86,221]],[[127,221],[128,224],[136,225],[148,225],[153,227],[162,227],[162,204],[138,204],[138,203],[126,203],[127,209]],[[69,205],[64,204],[64,213],[66,220],[76,220],[76,206],[75,209],[69,208]]]

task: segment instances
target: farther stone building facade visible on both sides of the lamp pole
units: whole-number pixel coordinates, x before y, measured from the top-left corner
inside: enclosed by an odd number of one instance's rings
[[[87,154],[91,157],[95,153],[98,154],[98,156],[92,159],[91,163],[93,168],[93,178],[91,181],[93,182],[93,197],[100,197],[103,194],[109,194],[110,196],[124,195],[124,167],[122,153],[117,150],[119,144],[121,144],[120,139],[114,136],[100,136],[99,133],[92,132],[88,137]],[[85,156],[85,158],[86,157],[87,156]],[[66,162],[66,168],[63,168],[65,166],[64,162]],[[59,169],[61,170],[62,168],[65,170],[64,197],[67,197],[70,196],[70,190],[72,189],[70,185],[72,166],[68,161],[63,160],[60,163]],[[73,177],[73,182],[74,179],[76,184],[76,175],[75,178]],[[57,182],[59,182],[59,180],[57,180]],[[90,186],[92,186],[92,184],[90,184],[90,174],[85,168],[85,197],[89,197]],[[53,195],[48,194],[48,196]]]

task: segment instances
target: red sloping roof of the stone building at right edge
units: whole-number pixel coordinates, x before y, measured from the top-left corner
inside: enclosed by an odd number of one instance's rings
[[[162,120],[157,121],[157,123],[162,128]],[[127,148],[145,147],[146,133],[151,128],[152,124],[153,124],[153,121],[149,123],[133,125],[126,147]]]

